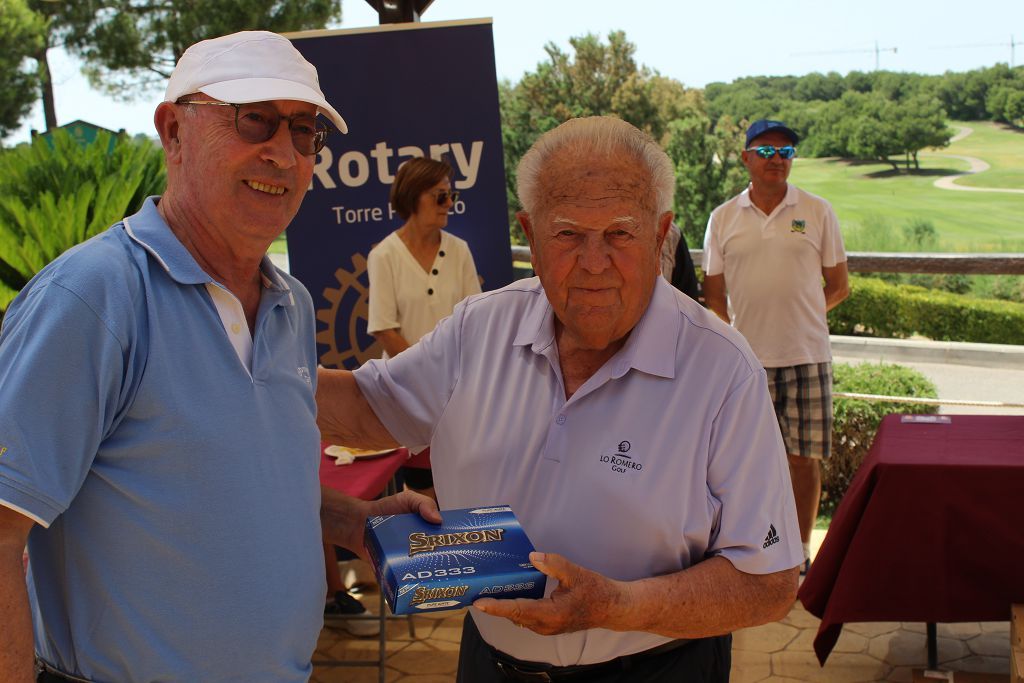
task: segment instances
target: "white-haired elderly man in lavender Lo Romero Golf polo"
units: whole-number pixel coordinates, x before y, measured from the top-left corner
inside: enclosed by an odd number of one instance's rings
[[[538,278],[471,296],[399,355],[321,370],[346,443],[431,447],[443,508],[509,504],[548,577],[477,600],[459,680],[725,681],[731,631],[780,618],[800,532],[765,372],[659,276],[673,168],[613,118],[522,158]]]

